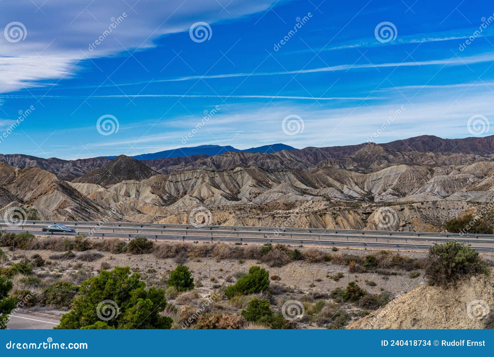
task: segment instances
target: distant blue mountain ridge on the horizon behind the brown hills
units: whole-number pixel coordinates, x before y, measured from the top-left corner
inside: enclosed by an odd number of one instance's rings
[[[134,159],[138,160],[151,160],[151,159],[165,159],[165,158],[177,158],[177,157],[188,157],[192,155],[220,155],[228,151],[233,152],[247,152],[247,153],[274,153],[275,151],[281,150],[298,150],[294,147],[285,144],[273,144],[264,145],[257,148],[250,148],[246,150],[235,149],[233,146],[220,146],[220,145],[201,145],[191,148],[179,148],[173,150],[159,151],[157,153],[142,154],[137,156],[132,156]],[[106,156],[108,159],[115,159],[116,156]]]

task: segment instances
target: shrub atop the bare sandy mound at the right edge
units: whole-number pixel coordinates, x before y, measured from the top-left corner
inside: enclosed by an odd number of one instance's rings
[[[461,278],[476,273],[489,274],[479,253],[474,249],[455,241],[430,248],[425,269],[429,283],[450,286]]]

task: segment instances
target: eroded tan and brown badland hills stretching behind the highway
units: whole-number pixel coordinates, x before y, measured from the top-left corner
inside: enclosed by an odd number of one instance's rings
[[[167,159],[0,156],[0,214],[41,219],[441,231],[494,199],[494,136]],[[301,208],[302,207],[302,208]],[[377,224],[380,210],[392,222]],[[288,217],[288,218],[287,218]]]

